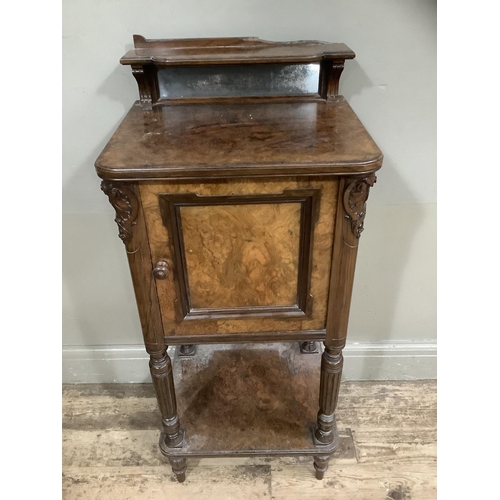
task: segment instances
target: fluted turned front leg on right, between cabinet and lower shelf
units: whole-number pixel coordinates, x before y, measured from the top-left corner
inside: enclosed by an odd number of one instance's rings
[[[342,349],[325,346],[321,358],[318,424],[314,431],[314,438],[318,444],[330,444],[334,439],[335,408],[339,396],[342,365]]]

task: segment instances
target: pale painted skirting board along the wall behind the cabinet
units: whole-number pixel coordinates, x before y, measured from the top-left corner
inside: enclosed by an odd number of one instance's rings
[[[177,349],[169,348],[172,356]],[[352,342],[343,351],[344,380],[419,380],[437,378],[437,344]],[[304,354],[304,356],[319,355]],[[65,384],[149,383],[149,356],[141,345],[64,346]]]

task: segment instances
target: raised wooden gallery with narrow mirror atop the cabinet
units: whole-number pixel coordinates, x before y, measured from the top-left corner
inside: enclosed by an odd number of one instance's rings
[[[327,100],[338,95],[345,60],[355,57],[343,43],[255,37],[134,35],[134,47],[120,62],[132,67],[145,111],[176,101]]]

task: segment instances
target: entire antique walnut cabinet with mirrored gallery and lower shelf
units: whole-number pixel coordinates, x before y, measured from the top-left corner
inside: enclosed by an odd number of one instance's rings
[[[130,264],[161,451],[179,481],[186,457],[255,454],[312,455],[321,479],[382,165],[338,94],[354,53],[256,38],[134,43],[121,62],[140,101],[95,166]]]

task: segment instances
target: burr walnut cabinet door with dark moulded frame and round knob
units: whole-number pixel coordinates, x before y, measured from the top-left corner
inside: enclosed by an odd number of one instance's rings
[[[324,330],[337,191],[335,178],[142,184],[165,335]]]

